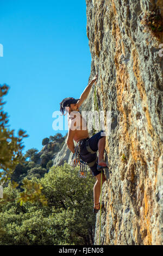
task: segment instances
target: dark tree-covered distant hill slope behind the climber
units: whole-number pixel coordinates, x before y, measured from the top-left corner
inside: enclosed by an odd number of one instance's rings
[[[61,133],[57,133],[43,139],[43,147],[40,151],[36,148],[26,151],[24,162],[17,164],[11,176],[11,180],[19,184],[18,188],[21,188],[24,178],[32,179],[36,177],[40,179],[49,171],[49,168],[53,166],[55,157],[62,150],[66,137],[67,134],[63,137]]]

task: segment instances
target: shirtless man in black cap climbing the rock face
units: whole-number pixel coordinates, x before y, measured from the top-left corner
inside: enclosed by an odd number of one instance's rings
[[[91,138],[89,138],[89,132],[86,127],[86,121],[82,117],[82,115],[77,113],[79,111],[79,107],[82,105],[84,100],[90,93],[91,87],[93,83],[96,82],[98,75],[96,75],[92,81],[85,88],[84,92],[80,96],[80,99],[74,99],[72,97],[67,97],[60,102],[60,111],[64,114],[64,111],[68,113],[68,135],[67,135],[67,147],[74,154],[74,141],[80,143],[80,158],[92,165],[90,169],[92,170],[93,176],[96,177],[96,183],[93,187],[93,198],[94,198],[94,208],[93,212],[96,214],[100,209],[99,197],[101,192],[101,172],[97,169],[99,166],[106,167],[106,162],[103,159],[104,149],[105,149],[105,136],[101,135],[101,132],[96,133]],[[74,118],[77,115],[80,118],[80,127],[77,126],[77,121],[74,123]],[[72,115],[71,115],[72,114]],[[77,120],[77,119],[76,119]],[[76,126],[76,129],[74,129]],[[73,127],[73,129],[71,129]],[[89,142],[89,146],[93,153],[90,153],[86,149],[86,141]],[[98,151],[98,157],[97,152]],[[98,159],[98,163],[97,163]],[[104,173],[102,173],[102,184],[105,181]]]

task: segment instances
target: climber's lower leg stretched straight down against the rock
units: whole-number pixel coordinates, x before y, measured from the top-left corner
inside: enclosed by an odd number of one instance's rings
[[[99,197],[101,192],[101,173],[95,176],[97,181],[93,187],[93,196],[94,196],[94,208],[100,209],[99,205]],[[102,185],[104,181],[106,180],[104,173],[102,173]]]

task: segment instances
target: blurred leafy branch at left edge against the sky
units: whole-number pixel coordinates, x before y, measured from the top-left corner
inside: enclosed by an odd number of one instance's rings
[[[10,179],[17,164],[24,161],[22,139],[28,137],[25,135],[26,131],[21,129],[18,131],[18,137],[15,137],[14,130],[8,128],[8,114],[3,110],[6,103],[3,102],[3,96],[8,93],[8,89],[9,86],[0,85],[0,169],[3,170],[0,173],[0,185]]]

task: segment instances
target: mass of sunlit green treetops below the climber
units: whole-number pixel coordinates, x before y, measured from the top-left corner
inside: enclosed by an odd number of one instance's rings
[[[73,169],[65,163],[64,166],[53,166],[41,179],[30,180],[42,192],[44,204],[40,197],[35,200],[29,195],[27,198],[28,182],[22,206],[18,200],[20,192],[11,185],[4,188],[11,200],[0,204],[4,230],[0,233],[0,245],[92,245],[95,180],[90,173],[86,179],[79,179],[78,168]]]

